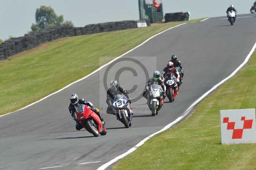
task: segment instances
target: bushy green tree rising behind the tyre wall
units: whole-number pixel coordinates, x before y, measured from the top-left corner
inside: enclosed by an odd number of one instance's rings
[[[51,6],[40,6],[36,9],[36,24],[32,24],[32,31],[39,31],[44,28],[53,28],[57,26],[71,26],[71,21],[64,21],[63,15],[57,16]]]

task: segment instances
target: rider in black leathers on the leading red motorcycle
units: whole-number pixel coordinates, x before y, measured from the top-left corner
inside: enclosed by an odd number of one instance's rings
[[[100,110],[96,107],[93,106],[93,104],[91,102],[88,102],[86,100],[84,100],[83,98],[82,99],[79,99],[77,94],[71,94],[70,97],[70,104],[68,106],[68,110],[71,114],[71,117],[73,120],[76,121],[76,130],[81,130],[82,128],[84,128],[78,121],[77,121],[77,118],[76,118],[76,115],[75,115],[75,112],[76,112],[76,109],[75,109],[75,105],[77,105],[78,103],[79,104],[84,104],[84,105],[87,105],[90,107],[90,109],[95,112],[99,117],[100,117],[100,120],[102,121],[103,124],[105,124],[105,122],[103,122],[103,118],[100,116]]]

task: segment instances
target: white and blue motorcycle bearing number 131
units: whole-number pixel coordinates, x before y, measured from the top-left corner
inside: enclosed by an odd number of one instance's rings
[[[116,118],[124,124],[124,127],[132,126],[131,104],[128,99],[123,95],[116,95],[112,105]]]

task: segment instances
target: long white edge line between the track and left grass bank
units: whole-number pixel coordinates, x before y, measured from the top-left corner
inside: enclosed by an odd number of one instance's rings
[[[19,109],[19,110],[16,110],[16,111],[14,111],[14,112],[17,112],[17,111],[26,109],[27,107],[29,107],[29,106],[31,106],[31,105],[33,105],[33,104],[36,104],[36,103],[38,103],[38,102],[40,102],[40,101],[42,101],[42,100],[44,100],[44,99],[46,99],[46,98],[48,98],[48,97],[50,97],[50,96],[56,94],[56,93],[59,93],[60,91],[62,91],[62,90],[64,90],[64,89],[68,88],[69,86],[71,86],[71,85],[73,85],[73,84],[75,84],[75,83],[77,83],[77,82],[79,82],[79,81],[82,81],[82,80],[86,79],[87,77],[89,77],[90,75],[92,75],[92,74],[98,72],[99,70],[101,70],[101,69],[104,68],[105,66],[108,66],[109,64],[111,64],[111,63],[113,63],[114,61],[116,61],[118,58],[123,57],[125,54],[128,54],[129,52],[131,52],[131,51],[133,51],[133,50],[139,48],[141,45],[147,43],[149,40],[151,40],[152,38],[156,37],[157,35],[160,35],[160,34],[164,33],[165,31],[168,31],[168,30],[170,30],[170,29],[172,29],[172,28],[179,27],[179,26],[184,25],[184,24],[187,24],[187,23],[182,23],[182,24],[176,25],[176,26],[174,26],[174,27],[170,27],[170,28],[168,28],[168,29],[166,29],[166,30],[164,30],[164,31],[162,31],[162,32],[160,32],[160,33],[157,33],[156,35],[153,35],[153,36],[149,37],[147,40],[145,40],[145,41],[142,42],[141,44],[139,44],[139,45],[137,45],[136,47],[134,47],[133,49],[131,49],[131,50],[125,52],[125,53],[122,54],[121,56],[114,58],[113,60],[109,61],[107,64],[104,64],[103,66],[101,66],[101,67],[99,67],[98,69],[94,70],[92,73],[86,75],[85,77],[83,77],[83,78],[81,78],[81,79],[79,79],[79,80],[77,80],[77,81],[74,81],[74,82],[68,84],[67,86],[63,87],[62,89],[60,89],[60,90],[58,90],[58,91],[56,91],[56,92],[54,92],[54,93],[52,93],[52,94],[50,94],[50,95],[48,95],[48,96],[42,98],[42,99],[40,99],[40,100],[38,100],[38,101],[36,101],[36,102],[34,102],[34,103],[28,104],[27,106],[25,106],[25,107],[23,107],[23,108],[21,108],[21,109]],[[0,117],[5,116],[5,115],[7,115],[7,114],[11,114],[11,113],[13,113],[13,112],[6,113],[6,114],[4,114],[4,115],[0,115]]]

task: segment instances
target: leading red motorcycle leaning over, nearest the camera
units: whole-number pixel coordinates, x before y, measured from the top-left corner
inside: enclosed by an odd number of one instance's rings
[[[94,113],[87,105],[77,104],[76,118],[81,125],[92,135],[98,137],[100,135],[106,135],[107,129],[100,121],[99,116]]]

